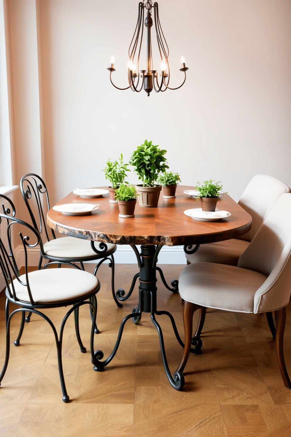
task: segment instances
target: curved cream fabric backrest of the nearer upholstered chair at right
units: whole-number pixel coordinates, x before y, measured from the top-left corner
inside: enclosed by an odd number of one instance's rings
[[[238,267],[267,276],[254,296],[254,312],[288,304],[291,294],[291,194],[281,194],[259,231],[242,253]]]

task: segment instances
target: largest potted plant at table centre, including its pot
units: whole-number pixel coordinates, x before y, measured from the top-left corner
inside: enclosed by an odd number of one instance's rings
[[[130,157],[130,165],[135,167],[138,179],[142,180],[142,184],[136,185],[141,207],[157,207],[162,186],[155,182],[159,173],[164,173],[169,168],[164,157],[165,153],[167,150],[161,150],[158,146],[154,146],[152,141],[145,140]]]

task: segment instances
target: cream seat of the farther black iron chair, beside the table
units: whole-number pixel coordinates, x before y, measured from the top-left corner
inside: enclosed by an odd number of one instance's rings
[[[96,248],[99,248],[98,243],[95,243]],[[106,256],[115,252],[116,244],[106,243]],[[44,244],[44,253],[49,257],[55,258],[90,258],[96,257],[96,252],[92,250],[91,242],[75,237],[60,237]],[[101,249],[100,249],[101,250]]]

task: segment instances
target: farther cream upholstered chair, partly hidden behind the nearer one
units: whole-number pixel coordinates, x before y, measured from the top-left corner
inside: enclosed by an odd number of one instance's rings
[[[238,201],[238,204],[252,217],[252,227],[249,232],[238,239],[229,239],[218,243],[200,245],[193,254],[185,254],[187,264],[210,262],[237,266],[240,255],[246,250],[260,225],[267,216],[274,203],[283,193],[290,193],[291,189],[280,180],[265,174],[254,176]],[[199,323],[195,336],[201,334],[206,309],[201,309]],[[273,337],[275,336],[272,313],[267,313],[267,320]]]

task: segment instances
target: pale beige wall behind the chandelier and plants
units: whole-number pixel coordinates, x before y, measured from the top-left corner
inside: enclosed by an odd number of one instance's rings
[[[4,3],[14,184],[42,173],[54,203],[105,185],[106,160],[148,139],[183,184],[221,180],[236,200],[257,173],[291,185],[289,0],[160,0],[172,86],[181,55],[189,71],[180,90],[150,97],[114,89],[106,70],[114,54],[126,86],[137,0]]]

